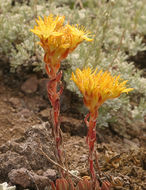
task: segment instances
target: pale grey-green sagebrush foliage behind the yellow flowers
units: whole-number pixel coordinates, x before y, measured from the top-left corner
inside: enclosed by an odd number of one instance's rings
[[[25,2],[25,1],[24,1]],[[131,115],[133,119],[143,120],[145,113],[146,79],[141,76],[130,56],[146,50],[143,37],[146,35],[146,4],[144,0],[58,0],[28,1],[29,5],[10,0],[0,2],[0,58],[9,60],[11,71],[22,67],[43,70],[42,49],[36,45],[38,39],[30,32],[34,26],[34,17],[53,13],[65,15],[71,24],[86,26],[94,35],[92,43],[81,44],[66,60],[64,80],[67,88],[79,93],[72,81],[71,72],[77,67],[92,66],[109,70],[113,75],[120,74],[129,80],[129,86],[135,90],[131,96],[122,95],[120,99],[106,102],[100,109],[98,125],[108,126],[115,121],[116,114]],[[64,63],[62,63],[64,64]],[[140,98],[137,99],[137,96]],[[132,104],[131,104],[132,102]],[[86,110],[83,109],[83,112]],[[127,118],[127,117],[126,117]],[[125,118],[125,119],[126,119]]]

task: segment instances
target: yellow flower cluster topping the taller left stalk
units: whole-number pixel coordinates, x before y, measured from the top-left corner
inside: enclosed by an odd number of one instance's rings
[[[39,38],[39,44],[48,54],[51,64],[56,64],[66,58],[82,41],[92,41],[90,32],[78,26],[64,25],[64,16],[49,15],[44,20],[39,17],[37,26],[31,29]]]

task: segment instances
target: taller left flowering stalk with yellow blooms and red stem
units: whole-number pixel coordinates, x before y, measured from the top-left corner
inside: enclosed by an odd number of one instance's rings
[[[52,105],[53,136],[56,144],[56,158],[63,166],[61,151],[61,129],[60,129],[60,95],[63,92],[61,83],[62,72],[59,72],[60,63],[84,40],[92,41],[88,38],[89,32],[83,27],[64,25],[64,16],[49,15],[44,20],[39,17],[37,26],[31,29],[39,38],[39,44],[45,51],[44,62],[46,73],[50,79],[47,84],[48,98]],[[59,87],[59,91],[58,91]],[[63,170],[61,175],[64,176]]]

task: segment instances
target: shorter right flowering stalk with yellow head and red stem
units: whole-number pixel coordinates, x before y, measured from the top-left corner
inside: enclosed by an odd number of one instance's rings
[[[96,119],[99,107],[108,99],[117,98],[121,93],[129,92],[132,88],[126,88],[127,81],[121,82],[120,76],[111,76],[109,72],[93,72],[91,68],[76,69],[76,74],[72,73],[71,79],[76,83],[83,94],[84,104],[89,109],[85,117],[88,127],[87,143],[89,146],[89,168],[92,179],[92,187],[96,189],[96,175],[93,163],[94,143],[96,141]],[[89,120],[89,121],[88,121]],[[96,158],[97,159],[97,158]],[[109,189],[110,184],[103,182],[101,189]]]

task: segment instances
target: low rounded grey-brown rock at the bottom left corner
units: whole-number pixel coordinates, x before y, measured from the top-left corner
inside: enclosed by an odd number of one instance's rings
[[[15,185],[23,188],[36,188],[45,189],[49,186],[49,179],[45,176],[40,176],[25,168],[14,169],[9,174],[9,180]]]

